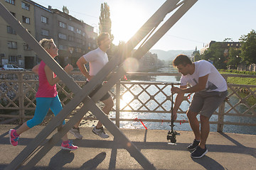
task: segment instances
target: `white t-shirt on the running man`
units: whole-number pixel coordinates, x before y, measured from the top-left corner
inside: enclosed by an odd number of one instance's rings
[[[107,53],[100,50],[99,47],[95,50],[88,52],[82,57],[85,58],[86,62],[89,62],[90,76],[95,76],[97,72],[99,72],[100,69],[102,69],[102,67],[104,67],[105,64],[107,64],[108,62]]]

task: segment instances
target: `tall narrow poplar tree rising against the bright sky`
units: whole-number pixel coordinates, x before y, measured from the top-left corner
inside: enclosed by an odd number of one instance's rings
[[[101,4],[100,8],[100,33],[109,33],[110,38],[113,39],[114,36],[111,34],[111,19],[110,19],[110,6],[107,5],[107,2]]]

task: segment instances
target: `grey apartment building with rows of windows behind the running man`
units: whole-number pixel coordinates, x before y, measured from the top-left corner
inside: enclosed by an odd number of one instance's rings
[[[58,61],[60,65],[73,64],[79,57],[94,50],[97,33],[93,33],[93,27],[89,26],[77,18],[63,13],[58,9],[53,11],[53,30],[55,43],[59,48]]]

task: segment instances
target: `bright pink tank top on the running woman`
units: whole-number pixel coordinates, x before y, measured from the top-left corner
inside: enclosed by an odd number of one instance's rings
[[[45,66],[46,63],[41,61],[38,69],[39,86],[38,91],[36,93],[36,98],[54,98],[58,94],[56,84],[50,86],[50,84],[48,83],[48,80],[46,78],[46,72],[44,70]],[[56,77],[55,74],[54,77]]]

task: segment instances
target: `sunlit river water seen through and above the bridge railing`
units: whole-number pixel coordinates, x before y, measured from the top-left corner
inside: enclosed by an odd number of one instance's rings
[[[176,73],[176,69],[172,68],[172,67],[163,67],[159,70],[157,70],[157,72],[168,72],[168,73]],[[145,77],[145,78],[140,78],[140,81],[163,81],[163,82],[171,82],[171,83],[178,83],[180,81],[180,77],[175,77],[175,76],[156,76],[156,77]],[[138,81],[138,80],[136,80]],[[137,89],[136,87],[133,88],[133,91],[135,91],[134,93],[137,93]],[[139,89],[138,89],[139,91]],[[164,89],[165,93],[170,95],[171,92],[170,90]],[[150,91],[150,94],[155,94],[156,91]],[[140,98],[141,100],[147,100],[145,95],[142,95],[142,98]],[[123,98],[126,98],[129,100],[129,98],[132,98],[132,95],[124,94]],[[176,96],[174,95],[174,98]],[[166,98],[165,96],[158,96],[159,101],[163,100],[163,98]],[[230,97],[230,103],[237,103],[238,102],[238,98],[235,96]],[[189,99],[189,101],[191,101],[191,98]],[[124,103],[120,103],[120,106],[122,108],[122,106],[124,105]],[[134,108],[136,108],[137,103],[133,102],[132,106]],[[154,108],[154,103],[150,103],[149,107],[152,106]],[[186,111],[188,109],[189,103],[188,102],[183,102],[181,103],[181,110],[182,111]],[[171,110],[171,102],[169,103],[164,103],[163,105],[164,108],[166,108],[167,111]],[[230,106],[228,106],[228,104],[225,104],[225,111],[228,111],[228,109],[230,108]],[[238,106],[236,109],[238,109],[238,111],[240,111],[241,113],[243,113],[245,111],[245,106]],[[217,110],[218,111],[218,110]],[[110,117],[114,118],[115,113],[110,113]],[[129,118],[129,119],[159,119],[159,120],[170,120],[171,119],[171,114],[170,113],[129,113],[129,112],[125,112],[125,113],[120,113],[120,118]],[[184,120],[188,120],[186,114],[178,114],[178,118],[177,120],[181,120],[179,123],[174,123],[176,126],[174,127],[174,130],[189,130],[191,131],[191,127],[188,123],[183,123]],[[198,115],[198,120],[199,120],[199,115]],[[217,122],[218,121],[218,115],[212,115],[210,118],[210,121],[214,121]],[[239,122],[239,123],[256,123],[256,118],[245,118],[245,117],[238,117],[238,116],[228,116],[225,115],[224,117],[224,121],[227,122]],[[154,123],[154,122],[144,122],[144,125],[146,126],[146,128],[148,129],[154,129],[154,130],[170,130],[170,123]],[[140,121],[122,121],[120,122],[120,128],[130,128],[130,129],[143,129],[144,125],[142,125],[142,123]],[[210,125],[210,131],[211,132],[216,132],[217,131],[217,125]],[[242,125],[224,125],[223,128],[223,132],[235,132],[235,133],[242,133],[242,134],[252,134],[252,135],[256,135],[256,127],[255,126],[242,126]]]

